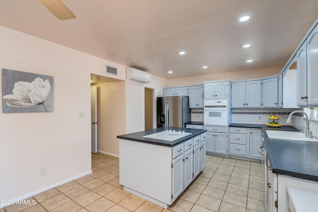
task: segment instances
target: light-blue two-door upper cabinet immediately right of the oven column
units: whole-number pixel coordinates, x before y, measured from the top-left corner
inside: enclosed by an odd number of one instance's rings
[[[232,108],[261,107],[261,80],[232,82]]]

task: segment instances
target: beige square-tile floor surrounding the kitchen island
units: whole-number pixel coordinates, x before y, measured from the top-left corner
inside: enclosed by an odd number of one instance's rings
[[[124,191],[119,159],[97,153],[92,174],[27,199],[35,205],[11,205],[0,212],[264,212],[262,164],[209,155],[206,161],[168,210]]]

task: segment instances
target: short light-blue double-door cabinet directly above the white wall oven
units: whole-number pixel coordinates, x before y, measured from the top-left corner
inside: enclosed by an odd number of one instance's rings
[[[227,99],[230,81],[203,82],[204,99]]]

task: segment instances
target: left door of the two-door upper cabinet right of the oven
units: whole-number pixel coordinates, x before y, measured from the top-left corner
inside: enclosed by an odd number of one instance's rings
[[[231,85],[232,107],[245,107],[245,82],[233,82]]]

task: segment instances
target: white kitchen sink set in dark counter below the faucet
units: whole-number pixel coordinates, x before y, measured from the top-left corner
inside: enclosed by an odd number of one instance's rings
[[[270,139],[286,139],[286,140],[296,140],[296,141],[318,142],[318,139],[307,138],[305,133],[300,133],[300,132],[266,130],[266,133],[268,138]]]

